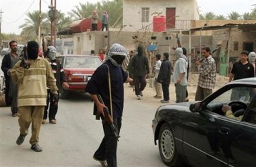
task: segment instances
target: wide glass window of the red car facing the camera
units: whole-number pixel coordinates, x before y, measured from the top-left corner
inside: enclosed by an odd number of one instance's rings
[[[97,68],[102,62],[94,56],[66,56],[64,68]]]

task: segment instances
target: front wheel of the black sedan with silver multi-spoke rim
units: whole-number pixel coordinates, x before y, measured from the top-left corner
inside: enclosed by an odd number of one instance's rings
[[[164,164],[167,166],[179,166],[182,164],[175,147],[174,135],[167,123],[164,123],[160,129],[158,148]]]

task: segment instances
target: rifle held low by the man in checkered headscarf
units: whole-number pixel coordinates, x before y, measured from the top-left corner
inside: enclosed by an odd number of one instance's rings
[[[97,95],[97,97],[98,97],[98,100],[100,101],[100,103],[104,104],[102,97],[100,95]],[[113,130],[115,136],[119,137],[119,131],[114,124],[113,118],[111,117],[111,115],[108,111],[108,108],[104,108],[103,111],[104,111],[105,117],[104,117],[102,123],[107,122],[110,125],[111,129]],[[100,115],[98,114],[98,112],[96,113],[96,119],[100,119]]]

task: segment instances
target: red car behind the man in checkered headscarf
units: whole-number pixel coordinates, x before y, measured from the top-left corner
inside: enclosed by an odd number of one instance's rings
[[[66,99],[70,91],[84,92],[94,70],[102,64],[98,56],[60,55],[57,60],[63,66],[69,89],[61,89],[60,98]]]

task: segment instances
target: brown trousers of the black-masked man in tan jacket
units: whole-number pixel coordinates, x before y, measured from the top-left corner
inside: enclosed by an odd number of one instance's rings
[[[39,141],[40,127],[44,115],[44,106],[22,106],[18,109],[18,122],[20,125],[20,134],[27,135],[28,128],[32,122],[32,135],[30,144],[36,144]]]

